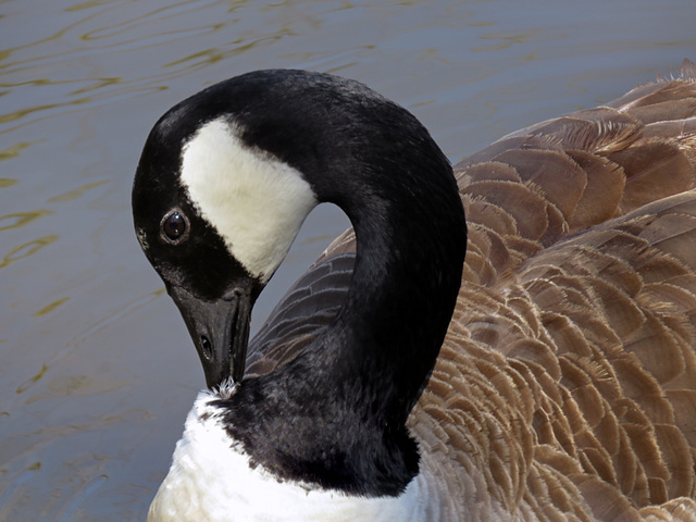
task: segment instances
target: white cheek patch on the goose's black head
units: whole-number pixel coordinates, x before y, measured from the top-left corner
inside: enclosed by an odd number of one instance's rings
[[[318,201],[297,170],[237,134],[222,119],[203,125],[182,150],[181,178],[232,254],[265,283]]]

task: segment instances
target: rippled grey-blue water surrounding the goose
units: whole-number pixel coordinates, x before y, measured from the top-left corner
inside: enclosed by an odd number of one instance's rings
[[[262,67],[360,79],[452,160],[696,59],[693,0],[1,2],[0,520],[144,520],[202,372],[139,251],[152,123]],[[262,296],[343,231],[319,209]]]

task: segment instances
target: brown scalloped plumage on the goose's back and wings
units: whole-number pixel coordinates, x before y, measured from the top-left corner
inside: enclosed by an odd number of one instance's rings
[[[696,521],[696,66],[455,170],[467,263],[409,420],[443,520]],[[300,278],[248,373],[331,321],[353,249]]]

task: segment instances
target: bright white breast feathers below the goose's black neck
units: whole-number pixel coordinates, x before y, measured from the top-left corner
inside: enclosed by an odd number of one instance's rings
[[[201,391],[176,444],[172,467],[150,507],[148,522],[415,522],[439,520],[437,494],[415,477],[399,497],[362,498],[278,482],[251,469]]]

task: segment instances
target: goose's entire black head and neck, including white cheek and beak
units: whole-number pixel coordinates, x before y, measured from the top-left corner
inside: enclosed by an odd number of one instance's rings
[[[293,361],[243,381],[254,299],[320,202],[356,231],[343,308]],[[403,492],[419,461],[406,420],[451,319],[467,238],[451,166],[423,125],[357,82],[248,73],[157,122],[133,210],[208,386],[237,383],[215,408],[253,467],[355,495]]]

